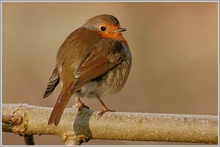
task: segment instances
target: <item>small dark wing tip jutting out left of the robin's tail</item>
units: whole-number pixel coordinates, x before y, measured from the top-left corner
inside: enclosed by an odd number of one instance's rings
[[[49,78],[49,82],[47,84],[47,89],[44,93],[43,98],[48,97],[54,91],[56,86],[59,84],[59,72],[58,67],[56,66],[53,70],[51,77]]]

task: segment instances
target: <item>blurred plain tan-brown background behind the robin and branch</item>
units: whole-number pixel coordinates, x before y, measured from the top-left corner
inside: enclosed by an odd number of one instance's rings
[[[87,19],[104,13],[116,16],[127,28],[123,34],[133,56],[124,89],[104,98],[110,109],[218,114],[217,2],[3,2],[2,102],[52,107],[60,86],[49,98],[42,96],[59,46]],[[82,101],[101,110],[96,99]],[[2,141],[24,144],[22,137],[10,133],[3,133]],[[35,136],[35,143],[63,144],[49,135]]]

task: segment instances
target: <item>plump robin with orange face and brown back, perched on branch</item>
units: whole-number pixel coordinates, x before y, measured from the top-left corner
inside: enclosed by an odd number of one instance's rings
[[[101,98],[120,91],[131,70],[132,56],[124,39],[118,19],[101,14],[88,19],[73,31],[61,44],[56,55],[56,65],[49,78],[43,98],[52,94],[61,84],[61,92],[51,112],[48,125],[58,125],[62,113],[74,96],[78,109],[88,108],[80,100],[97,98],[102,116],[108,109]]]

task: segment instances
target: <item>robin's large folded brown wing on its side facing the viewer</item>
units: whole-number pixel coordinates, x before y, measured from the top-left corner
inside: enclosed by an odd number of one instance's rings
[[[120,62],[121,54],[119,52],[106,56],[101,51],[92,52],[76,70],[74,84],[70,89],[70,93],[74,93],[76,89],[106,73]]]

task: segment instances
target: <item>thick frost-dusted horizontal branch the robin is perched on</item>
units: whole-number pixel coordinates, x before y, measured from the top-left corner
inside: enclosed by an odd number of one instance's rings
[[[90,139],[165,141],[218,144],[218,117],[158,113],[110,112],[66,108],[58,126],[47,125],[52,108],[27,104],[2,104],[2,130],[20,135],[58,135],[64,144]],[[8,116],[20,116],[11,121]],[[9,117],[10,118],[10,117]]]

